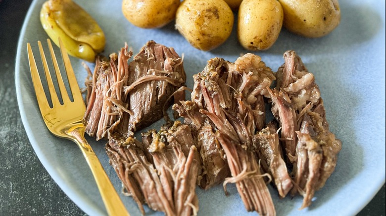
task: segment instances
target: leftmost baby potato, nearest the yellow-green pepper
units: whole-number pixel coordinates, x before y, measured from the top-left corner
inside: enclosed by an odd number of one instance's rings
[[[133,25],[152,29],[172,21],[179,5],[180,0],[123,0],[122,12]]]

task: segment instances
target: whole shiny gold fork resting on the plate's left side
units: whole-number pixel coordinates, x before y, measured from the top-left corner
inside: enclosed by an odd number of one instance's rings
[[[85,126],[82,120],[86,106],[83,101],[78,82],[76,81],[70,59],[68,58],[67,51],[59,38],[60,52],[62,55],[64,68],[67,73],[73,101],[70,100],[65,88],[56,57],[52,49],[51,41],[47,39],[47,42],[61,98],[63,101],[63,104],[60,104],[50,72],[48,70],[47,60],[43,51],[42,43],[38,41],[43,68],[46,74],[48,90],[51,96],[52,108],[48,104],[42,81],[38,73],[38,68],[36,66],[35,58],[32,53],[31,45],[27,43],[28,60],[30,63],[32,82],[34,83],[36,97],[38,99],[40,112],[42,113],[44,122],[46,123],[48,130],[55,136],[72,140],[78,144],[79,148],[82,150],[83,156],[86,158],[86,161],[89,164],[95,181],[97,182],[97,187],[106,207],[107,214],[110,216],[129,215],[113,185],[104,172],[103,167],[97,158],[97,155],[94,153],[90,144],[87,143],[84,137]]]

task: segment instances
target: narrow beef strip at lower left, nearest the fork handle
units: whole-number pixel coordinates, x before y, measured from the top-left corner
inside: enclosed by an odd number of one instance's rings
[[[125,138],[114,134],[105,146],[114,168],[124,189],[137,202],[142,214],[145,214],[142,204],[145,202],[151,209],[169,211],[162,200],[166,197],[158,193],[162,184],[153,165],[147,160],[142,144],[133,137]]]

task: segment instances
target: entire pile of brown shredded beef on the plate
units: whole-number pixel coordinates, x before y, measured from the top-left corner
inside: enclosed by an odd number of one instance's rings
[[[285,197],[312,203],[337,164],[341,142],[330,132],[314,75],[294,51],[275,74],[259,56],[235,63],[207,62],[193,75],[191,101],[186,74],[173,48],[149,41],[134,60],[127,44],[110,59],[98,58],[89,72],[86,132],[106,137],[110,164],[139,205],[167,216],[198,211],[195,186],[235,183],[247,211],[276,215],[267,182]],[[274,80],[276,87],[272,88]],[[157,132],[134,132],[157,121],[174,97],[180,121]],[[274,120],[266,123],[266,102]],[[167,118],[166,118],[167,119]],[[290,172],[289,172],[290,170]]]

